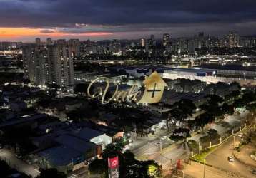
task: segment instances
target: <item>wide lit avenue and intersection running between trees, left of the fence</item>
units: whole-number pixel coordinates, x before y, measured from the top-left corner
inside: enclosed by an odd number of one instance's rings
[[[231,127],[235,127],[240,125],[240,122],[243,118],[246,117],[248,112],[243,112],[240,115],[232,115],[225,118],[224,122],[228,122]],[[230,127],[222,127],[221,124],[212,124],[209,125],[207,130],[216,129],[221,135],[225,133]],[[139,138],[134,145],[130,147],[130,150],[134,153],[134,155],[138,159],[154,159],[159,164],[162,164],[164,167],[169,167],[171,164],[175,164],[178,159],[183,159],[185,157],[189,157],[190,151],[187,145],[182,144],[173,144],[169,140],[162,140],[162,151],[160,152],[160,138],[162,135],[167,135],[167,133],[162,131],[157,137],[142,137]],[[204,134],[193,135],[192,140],[200,140],[200,137],[204,136]],[[225,157],[225,161],[227,161],[227,157]]]

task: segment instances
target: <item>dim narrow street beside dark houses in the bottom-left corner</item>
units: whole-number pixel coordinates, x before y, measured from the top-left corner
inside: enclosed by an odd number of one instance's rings
[[[34,165],[26,164],[26,162],[18,159],[13,152],[7,149],[0,150],[0,158],[5,160],[10,167],[17,169],[19,172],[24,172],[27,175],[36,177],[40,174],[39,170]]]

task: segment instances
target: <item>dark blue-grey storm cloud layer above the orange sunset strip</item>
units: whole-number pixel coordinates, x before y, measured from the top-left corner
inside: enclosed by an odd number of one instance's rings
[[[255,6],[255,0],[0,0],[0,27],[58,27],[80,33],[232,26],[255,23]]]

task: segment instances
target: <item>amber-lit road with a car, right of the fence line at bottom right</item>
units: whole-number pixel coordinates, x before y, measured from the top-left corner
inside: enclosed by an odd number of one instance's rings
[[[249,129],[252,129],[250,127]],[[247,132],[243,130],[242,132]],[[236,136],[236,142],[238,141],[238,136]],[[235,174],[240,175],[241,177],[252,178],[256,175],[252,174],[252,168],[247,167],[245,164],[242,164],[235,160],[235,162],[228,162],[227,157],[232,156],[233,153],[233,137],[230,137],[227,142],[223,143],[218,147],[214,152],[206,157],[207,164],[211,164],[214,167],[219,167],[229,172],[234,172]]]

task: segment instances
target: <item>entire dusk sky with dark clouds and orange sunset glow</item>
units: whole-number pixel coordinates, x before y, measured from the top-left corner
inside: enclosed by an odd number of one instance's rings
[[[255,0],[0,0],[0,41],[255,35]]]

